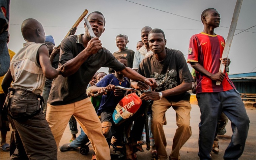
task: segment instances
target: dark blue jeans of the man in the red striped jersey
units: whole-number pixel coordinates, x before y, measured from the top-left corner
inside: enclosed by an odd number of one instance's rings
[[[224,92],[198,93],[196,97],[201,112],[198,140],[200,159],[211,159],[209,153],[221,112],[230,120],[233,131],[223,158],[238,159],[244,152],[250,123],[239,94],[232,89]]]

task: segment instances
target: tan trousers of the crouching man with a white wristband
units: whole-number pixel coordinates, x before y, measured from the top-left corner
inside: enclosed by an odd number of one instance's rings
[[[158,158],[167,159],[167,143],[163,125],[167,124],[165,112],[170,107],[173,107],[176,112],[176,124],[178,128],[173,137],[172,152],[169,158],[180,159],[179,150],[192,135],[190,126],[191,105],[189,101],[169,102],[166,98],[154,101],[152,105],[151,131],[154,136]]]

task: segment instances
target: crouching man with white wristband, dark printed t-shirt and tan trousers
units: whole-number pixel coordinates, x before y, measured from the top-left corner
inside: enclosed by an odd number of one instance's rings
[[[179,150],[191,136],[190,94],[194,81],[186,59],[181,51],[166,48],[165,34],[160,29],[153,29],[148,34],[149,47],[153,53],[139,65],[138,73],[154,78],[158,87],[154,91],[141,94],[143,100],[152,99],[151,131],[159,159],[167,159],[166,138],[163,125],[166,125],[165,112],[172,107],[176,112],[177,130],[173,137],[172,152],[169,159],[180,159]],[[136,89],[146,89],[141,82],[131,83]]]

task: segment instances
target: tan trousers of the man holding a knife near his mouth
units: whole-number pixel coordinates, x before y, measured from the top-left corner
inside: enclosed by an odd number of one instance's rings
[[[111,159],[108,143],[102,133],[101,121],[90,98],[60,106],[47,104],[46,120],[49,123],[57,146],[59,146],[60,139],[72,115],[74,115],[83,131],[89,137],[96,159]]]

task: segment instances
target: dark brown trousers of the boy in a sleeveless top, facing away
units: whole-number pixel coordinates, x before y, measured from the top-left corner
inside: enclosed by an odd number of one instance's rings
[[[40,109],[39,97],[30,91],[9,88],[5,108],[16,145],[10,159],[57,159],[57,145]]]

